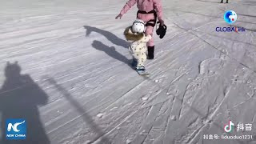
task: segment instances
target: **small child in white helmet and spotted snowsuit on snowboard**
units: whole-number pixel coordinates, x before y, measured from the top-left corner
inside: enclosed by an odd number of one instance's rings
[[[151,35],[145,35],[145,22],[141,19],[134,21],[132,26],[129,26],[124,31],[127,41],[130,41],[130,53],[133,55],[132,66],[136,66],[136,71],[139,74],[146,74],[144,62],[146,62],[146,42],[149,42]]]

